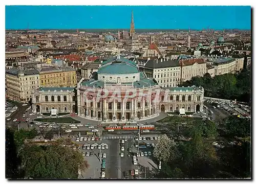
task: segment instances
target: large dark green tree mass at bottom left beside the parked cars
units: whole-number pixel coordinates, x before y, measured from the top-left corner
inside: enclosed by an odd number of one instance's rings
[[[71,140],[58,140],[44,146],[25,144],[20,156],[26,177],[77,179],[78,169],[84,170],[89,165],[74,146]]]

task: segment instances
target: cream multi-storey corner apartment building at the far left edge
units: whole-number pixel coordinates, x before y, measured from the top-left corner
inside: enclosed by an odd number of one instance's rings
[[[30,101],[32,91],[39,87],[39,72],[35,69],[6,69],[6,97],[17,101]]]

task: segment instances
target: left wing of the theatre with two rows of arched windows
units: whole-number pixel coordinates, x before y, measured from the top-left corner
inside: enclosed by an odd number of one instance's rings
[[[32,94],[33,112],[75,112],[74,87],[39,87]]]

